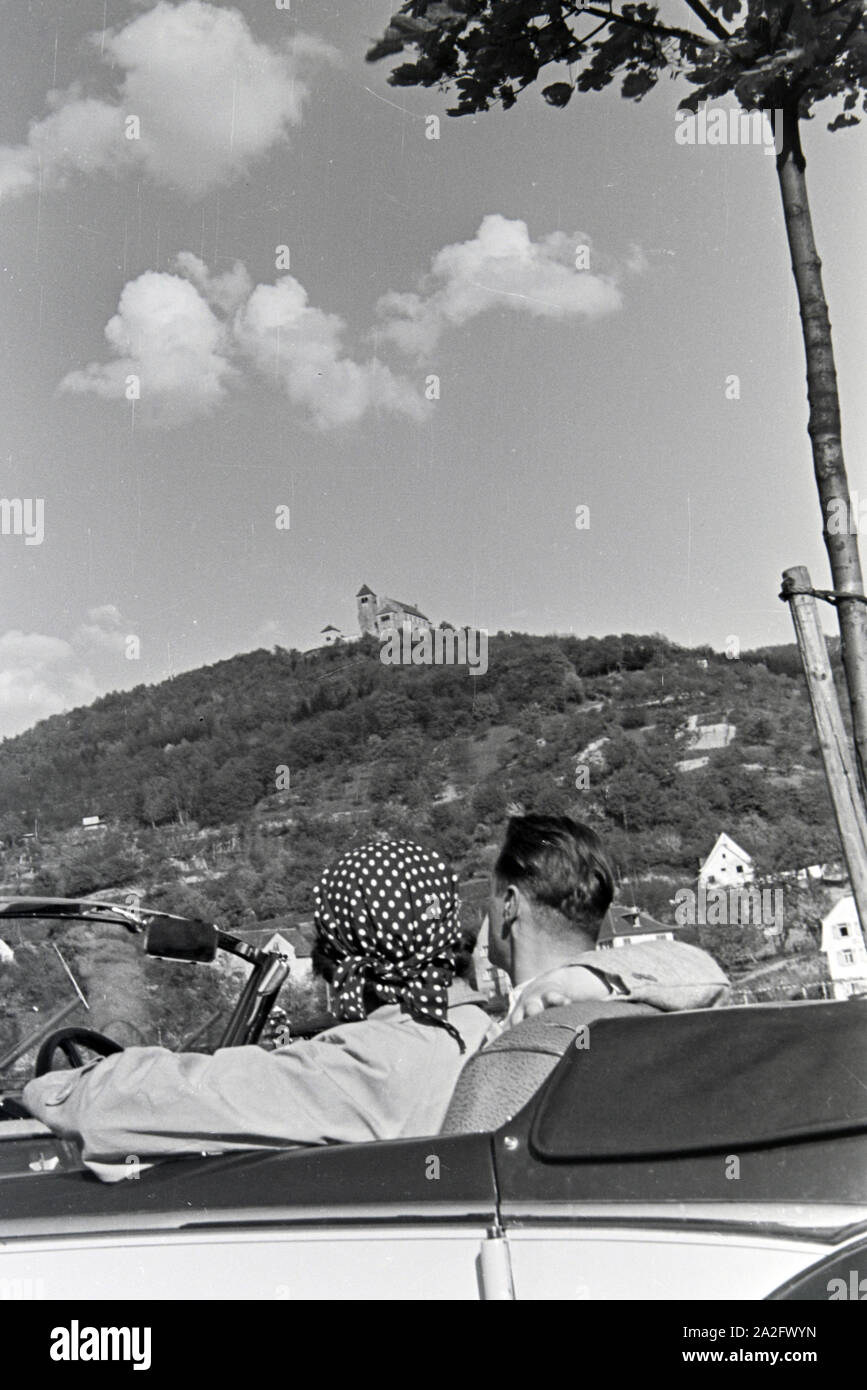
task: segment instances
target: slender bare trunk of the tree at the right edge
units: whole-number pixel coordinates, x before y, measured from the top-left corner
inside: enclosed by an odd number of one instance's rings
[[[836,370],[831,343],[831,320],[821,278],[821,261],[813,235],[806,160],[800,147],[798,114],[784,113],[784,136],[777,157],[786,236],[807,359],[807,425],[813,445],[813,468],[823,509],[823,534],[834,588],[863,594],[864,580],[857,543],[857,517],[852,514],[849,480],[841,439]],[[841,524],[841,518],[843,518]],[[834,530],[829,530],[829,524]],[[835,534],[839,531],[839,534]],[[861,799],[867,791],[867,605],[859,599],[838,599],[843,670],[852,708],[856,766]]]

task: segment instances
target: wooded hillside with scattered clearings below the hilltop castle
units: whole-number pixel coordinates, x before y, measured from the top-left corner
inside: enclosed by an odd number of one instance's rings
[[[385,666],[372,641],[276,648],[0,744],[7,880],[24,858],[31,891],[210,894],[233,867],[229,920],[308,910],[328,859],[377,831],[485,872],[513,805],[589,821],[631,878],[692,878],[721,828],[764,873],[838,853],[795,648],[499,634],[479,677]]]

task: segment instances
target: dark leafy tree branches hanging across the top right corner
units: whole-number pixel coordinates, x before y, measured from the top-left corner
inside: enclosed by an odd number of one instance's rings
[[[684,108],[731,93],[745,110],[785,108],[809,117],[827,97],[843,110],[829,129],[867,110],[867,28],[861,0],[686,0],[685,25],[671,7],[575,4],[560,0],[407,0],[370,61],[406,49],[415,58],[392,70],[393,86],[447,86],[452,115],[514,106],[554,65],[559,81],[542,96],[568,106],[574,92],[600,92],[620,79],[621,96],[641,101],[660,76],[682,76],[695,92]]]

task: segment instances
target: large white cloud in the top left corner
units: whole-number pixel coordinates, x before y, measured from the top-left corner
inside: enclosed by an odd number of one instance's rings
[[[50,92],[53,110],[31,125],[26,143],[0,149],[0,196],[124,168],[199,196],[283,145],[310,96],[304,75],[336,60],[310,36],[296,35],[285,50],[260,43],[238,10],[204,0],[160,0],[93,42],[122,72],[117,95],[88,97],[81,83]]]

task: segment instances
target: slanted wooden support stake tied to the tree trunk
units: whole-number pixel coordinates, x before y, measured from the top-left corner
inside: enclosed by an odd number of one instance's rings
[[[834,685],[825,637],[818,621],[810,571],[803,564],[784,570],[779,595],[792,612],[795,637],[807,681],[818,748],[825,766],[831,805],[839,830],[854,905],[867,933],[867,812],[846,727]]]

